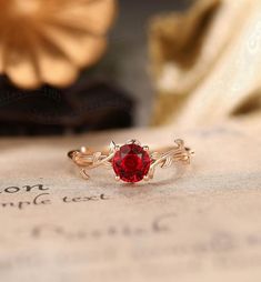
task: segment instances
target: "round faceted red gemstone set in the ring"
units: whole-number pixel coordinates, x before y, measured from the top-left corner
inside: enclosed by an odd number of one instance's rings
[[[138,144],[126,144],[116,152],[112,165],[116,174],[126,182],[139,182],[149,172],[150,157]]]

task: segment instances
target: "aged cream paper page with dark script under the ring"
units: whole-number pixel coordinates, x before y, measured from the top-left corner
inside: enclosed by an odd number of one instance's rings
[[[2,282],[261,279],[261,125],[171,128],[79,138],[0,141]],[[182,175],[116,183],[82,180],[67,151],[137,138],[183,138],[197,155]]]

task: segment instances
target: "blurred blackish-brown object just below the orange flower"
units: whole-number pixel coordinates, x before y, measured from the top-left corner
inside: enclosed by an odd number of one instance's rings
[[[0,135],[81,133],[132,125],[132,100],[119,88],[98,80],[71,88],[44,85],[34,91],[0,79]]]

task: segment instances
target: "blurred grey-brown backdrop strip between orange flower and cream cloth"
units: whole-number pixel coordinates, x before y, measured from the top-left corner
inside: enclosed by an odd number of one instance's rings
[[[137,125],[150,124],[152,115],[154,89],[149,70],[150,21],[158,13],[184,11],[191,3],[191,0],[120,1],[119,18],[111,32],[109,57],[113,57],[113,49],[118,49],[121,54],[117,82],[131,93],[137,103]]]

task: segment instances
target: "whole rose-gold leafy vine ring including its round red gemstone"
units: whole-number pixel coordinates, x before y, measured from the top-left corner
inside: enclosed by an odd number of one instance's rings
[[[116,180],[124,182],[149,181],[153,179],[157,167],[169,168],[174,162],[189,164],[193,152],[184,145],[183,140],[175,140],[174,145],[150,152],[148,145],[130,140],[123,145],[111,141],[108,150],[93,152],[86,147],[73,150],[68,157],[77,164],[84,179],[89,179],[88,170],[104,165],[112,168]]]

